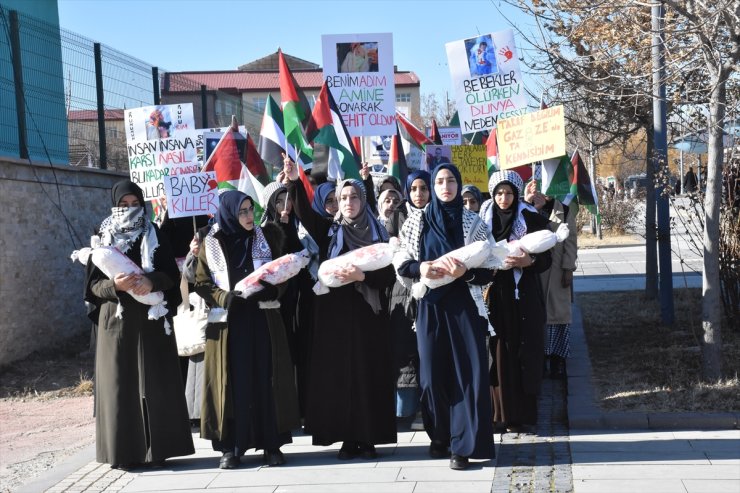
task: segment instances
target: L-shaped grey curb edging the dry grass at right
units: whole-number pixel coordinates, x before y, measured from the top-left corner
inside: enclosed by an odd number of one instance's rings
[[[581,309],[576,304],[572,307],[568,361],[568,425],[571,430],[728,430],[740,427],[740,413],[604,412],[599,409]]]

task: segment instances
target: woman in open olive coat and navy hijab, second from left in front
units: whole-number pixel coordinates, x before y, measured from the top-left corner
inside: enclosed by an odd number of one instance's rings
[[[280,310],[283,286],[262,283],[247,299],[237,282],[282,254],[274,224],[254,224],[254,202],[237,191],[220,195],[216,224],[198,254],[195,290],[211,305],[206,328],[201,437],[233,469],[248,449],[268,466],[285,463],[280,447],[299,426],[293,367]],[[212,321],[212,322],[210,322]]]

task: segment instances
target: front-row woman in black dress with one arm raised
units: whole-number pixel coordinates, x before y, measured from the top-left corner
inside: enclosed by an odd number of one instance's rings
[[[321,260],[388,241],[367,206],[364,185],[340,181],[339,212],[317,213],[306,197],[295,164],[286,159],[288,193],[301,223],[319,245]],[[314,445],[343,442],[338,458],[376,457],[375,445],[396,442],[393,362],[385,291],[395,280],[392,266],[362,272],[346,269],[351,280],[315,303],[314,340],[306,430]]]

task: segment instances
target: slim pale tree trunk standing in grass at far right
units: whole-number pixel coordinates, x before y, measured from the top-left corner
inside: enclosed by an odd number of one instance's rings
[[[718,69],[712,77],[709,99],[709,152],[707,190],[704,199],[704,258],[702,275],[701,319],[704,330],[702,377],[715,381],[722,375],[722,296],[719,279],[719,214],[722,200],[722,161],[725,105],[725,81],[729,70]]]

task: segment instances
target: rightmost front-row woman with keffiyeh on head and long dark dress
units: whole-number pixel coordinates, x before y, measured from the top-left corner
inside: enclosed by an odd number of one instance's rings
[[[488,181],[491,199],[480,215],[496,241],[512,241],[547,228],[547,218],[520,201],[524,184],[514,171],[497,171]],[[550,268],[550,252],[507,257],[511,267],[496,273],[488,293],[491,324],[491,385],[494,421],[512,432],[534,432],[542,383],[545,302],[539,274]]]

